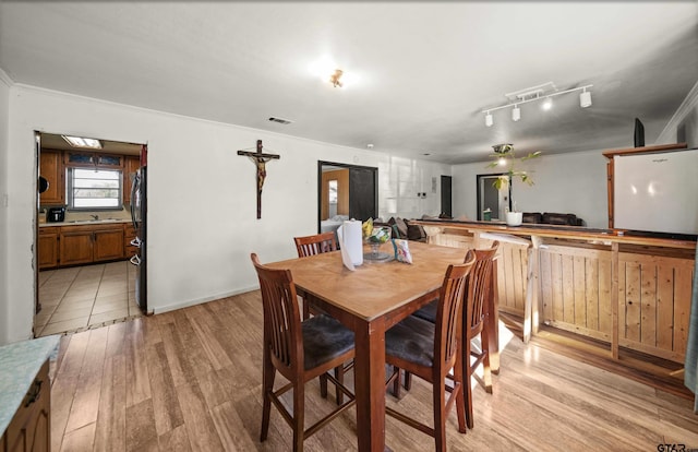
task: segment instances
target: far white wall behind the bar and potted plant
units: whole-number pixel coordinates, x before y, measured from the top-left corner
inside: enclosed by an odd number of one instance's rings
[[[543,155],[517,169],[531,173],[532,187],[515,179],[512,199],[522,212],[574,213],[588,227],[609,226],[606,165],[602,151]],[[455,165],[453,173],[454,216],[477,219],[477,175],[502,173],[486,168],[490,162]]]

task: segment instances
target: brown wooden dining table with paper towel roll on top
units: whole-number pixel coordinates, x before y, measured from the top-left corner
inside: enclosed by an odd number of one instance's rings
[[[392,245],[382,251],[392,251]],[[385,448],[385,332],[438,297],[449,264],[467,250],[409,242],[413,262],[364,260],[346,269],[339,251],[269,263],[289,269],[299,295],[354,332],[354,392],[359,451]],[[369,251],[368,248],[364,251]]]

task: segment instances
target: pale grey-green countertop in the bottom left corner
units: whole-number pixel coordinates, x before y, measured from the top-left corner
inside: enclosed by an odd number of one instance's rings
[[[58,354],[59,335],[0,347],[0,432],[7,430],[36,374]]]

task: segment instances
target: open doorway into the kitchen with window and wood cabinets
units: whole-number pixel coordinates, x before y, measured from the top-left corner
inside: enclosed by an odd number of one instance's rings
[[[145,145],[97,140],[100,147],[85,148],[58,133],[35,133],[34,335],[141,317],[129,206]]]

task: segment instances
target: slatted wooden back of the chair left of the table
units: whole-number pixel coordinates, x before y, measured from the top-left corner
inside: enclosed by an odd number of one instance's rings
[[[264,310],[264,347],[274,367],[286,378],[303,372],[303,340],[296,285],[289,270],[269,269],[251,255],[260,278]]]

